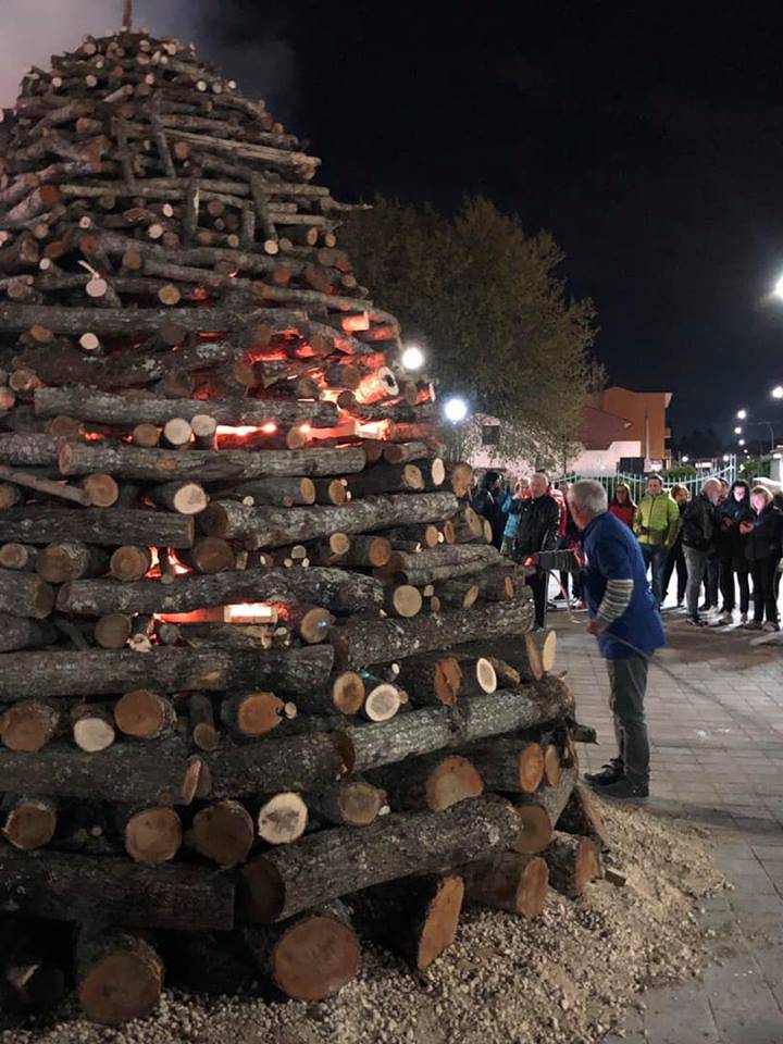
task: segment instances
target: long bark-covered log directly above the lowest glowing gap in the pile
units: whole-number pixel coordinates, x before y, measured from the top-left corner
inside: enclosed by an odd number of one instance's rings
[[[247,569],[120,583],[83,580],[66,584],[58,609],[80,616],[108,612],[179,613],[214,606],[254,602],[306,602],[339,611],[361,612],[383,605],[383,588],[371,576],[337,569]]]

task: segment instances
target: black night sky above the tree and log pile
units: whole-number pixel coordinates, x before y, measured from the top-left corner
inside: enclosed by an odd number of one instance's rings
[[[33,23],[41,48],[54,32],[30,5],[67,12],[71,46],[117,24],[121,9],[5,3],[18,8],[3,27],[14,61],[28,46],[15,39],[21,25]],[[246,94],[265,97],[323,157],[339,198],[381,191],[448,210],[481,192],[529,232],[551,229],[573,290],[597,306],[611,381],[673,391],[678,434],[721,422],[728,434],[744,406],[780,419],[783,436],[783,405],[768,394],[783,383],[783,301],[770,297],[783,272],[783,4],[136,10],[137,23],[196,39]]]

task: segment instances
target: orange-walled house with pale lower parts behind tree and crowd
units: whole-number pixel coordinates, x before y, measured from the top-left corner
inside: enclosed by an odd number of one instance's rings
[[[584,406],[581,444],[577,456],[568,462],[568,471],[589,475],[618,471],[621,460],[637,460],[645,469],[666,468],[670,458],[667,439],[667,409],[671,391],[632,391],[611,387],[591,395]],[[512,474],[530,472],[524,460],[504,461],[497,455],[500,421],[480,419],[482,445],[473,456],[475,468],[499,468]]]

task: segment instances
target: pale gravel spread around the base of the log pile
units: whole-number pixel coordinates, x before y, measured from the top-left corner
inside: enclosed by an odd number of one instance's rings
[[[596,882],[576,903],[550,891],[533,921],[469,910],[426,979],[366,947],[359,979],[321,1004],[172,992],[153,1018],[105,1029],[70,1003],[0,1044],[593,1044],[643,986],[698,973],[699,900],[726,886],[705,832],[639,810],[606,817],[624,886]]]

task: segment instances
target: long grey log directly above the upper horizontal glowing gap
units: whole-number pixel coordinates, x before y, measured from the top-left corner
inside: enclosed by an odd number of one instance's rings
[[[0,314],[0,327],[2,315]],[[204,411],[199,399],[162,399],[112,395],[89,388],[38,388],[37,417],[65,414],[99,424],[166,425],[172,418],[190,421]],[[313,427],[335,427],[338,411],[334,402],[290,399],[212,399],[210,417],[219,424],[261,426],[270,422],[289,426],[307,422]]]

